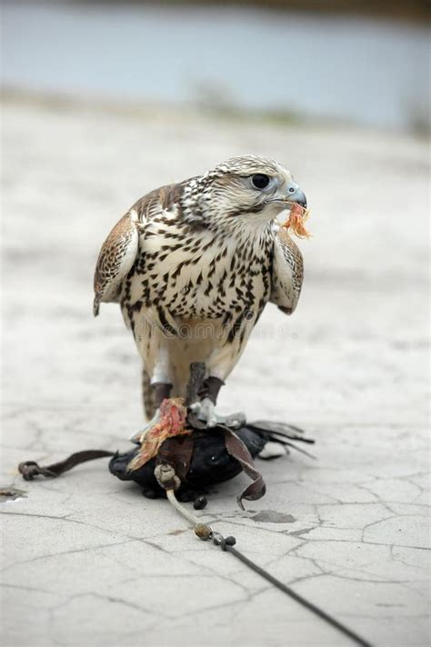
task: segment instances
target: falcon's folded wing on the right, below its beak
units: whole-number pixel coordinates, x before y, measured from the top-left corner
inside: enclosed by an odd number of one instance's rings
[[[302,254],[286,229],[280,227],[274,241],[270,301],[286,314],[292,314],[301,294],[304,278]]]

